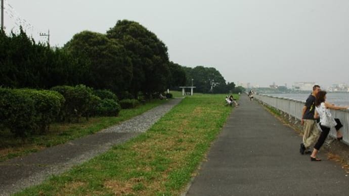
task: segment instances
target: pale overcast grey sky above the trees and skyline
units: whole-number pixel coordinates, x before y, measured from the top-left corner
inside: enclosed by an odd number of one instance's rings
[[[22,22],[36,41],[45,41],[39,33],[50,29],[54,46],[127,19],[155,33],[170,61],[214,67],[228,82],[349,84],[347,0],[4,1],[7,32]]]

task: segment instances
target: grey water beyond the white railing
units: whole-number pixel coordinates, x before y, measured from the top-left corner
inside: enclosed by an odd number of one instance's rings
[[[278,96],[278,97],[285,97],[285,98],[291,98],[294,100],[300,100],[305,102],[308,98],[310,93],[282,93],[282,94],[273,94],[270,93],[268,95],[271,96]],[[349,106],[349,93],[346,92],[327,92],[326,94],[327,102],[331,104],[335,104],[338,106]]]

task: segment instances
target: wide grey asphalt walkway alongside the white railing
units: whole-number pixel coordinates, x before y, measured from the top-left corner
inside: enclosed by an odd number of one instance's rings
[[[349,176],[320,153],[299,154],[301,137],[242,95],[187,195],[349,195]]]

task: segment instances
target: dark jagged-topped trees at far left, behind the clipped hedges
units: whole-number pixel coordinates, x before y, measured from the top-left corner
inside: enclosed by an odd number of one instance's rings
[[[60,48],[35,43],[20,29],[11,36],[0,31],[0,86],[50,88],[75,83],[74,60]]]

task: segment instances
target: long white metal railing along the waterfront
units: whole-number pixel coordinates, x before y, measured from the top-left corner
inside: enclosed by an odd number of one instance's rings
[[[302,108],[305,104],[304,101],[263,94],[254,94],[254,98],[290,115],[291,117],[294,117],[299,121],[301,119]],[[343,128],[341,129],[343,133],[343,142],[349,145],[349,110],[331,110],[331,114],[334,118],[338,118],[343,123]],[[334,128],[331,128],[330,136],[336,137],[336,131]]]

